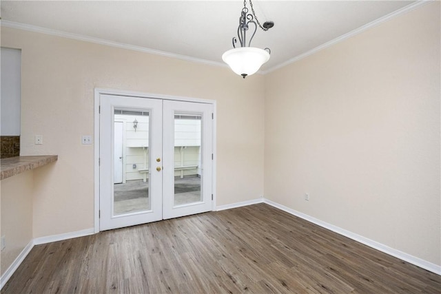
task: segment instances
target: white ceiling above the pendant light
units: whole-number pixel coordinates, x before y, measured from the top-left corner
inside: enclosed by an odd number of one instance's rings
[[[254,0],[260,23],[275,25],[267,32],[258,29],[252,46],[271,49],[262,67],[271,70],[413,2]],[[1,0],[0,5],[5,25],[23,23],[222,63],[243,1]]]

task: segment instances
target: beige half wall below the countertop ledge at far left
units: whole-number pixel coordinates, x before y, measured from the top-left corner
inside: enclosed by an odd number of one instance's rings
[[[1,227],[6,248],[0,253],[0,275],[32,241],[32,189],[34,171],[1,180]]]

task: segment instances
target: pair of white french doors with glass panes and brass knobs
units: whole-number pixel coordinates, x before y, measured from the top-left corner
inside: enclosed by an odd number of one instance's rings
[[[100,109],[100,231],[212,210],[212,104],[101,94]]]

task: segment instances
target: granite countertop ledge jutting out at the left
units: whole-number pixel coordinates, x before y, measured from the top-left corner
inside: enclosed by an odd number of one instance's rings
[[[0,180],[43,167],[58,160],[58,155],[17,156],[0,160]]]

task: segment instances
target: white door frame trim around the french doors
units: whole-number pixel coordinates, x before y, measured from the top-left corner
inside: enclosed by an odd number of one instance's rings
[[[140,98],[156,98],[163,100],[174,100],[174,101],[187,101],[187,102],[197,102],[197,103],[207,103],[213,105],[213,162],[212,162],[212,211],[216,210],[216,101],[201,99],[201,98],[190,98],[184,96],[169,96],[162,94],[151,94],[143,92],[132,92],[125,90],[114,90],[106,88],[95,88],[94,90],[94,233],[99,233],[99,101],[101,95],[118,95],[118,96],[132,96]]]

